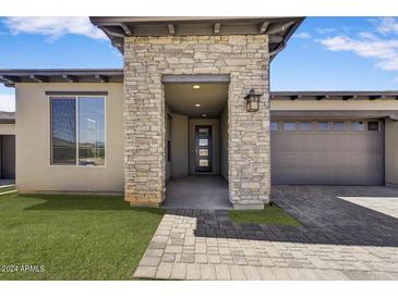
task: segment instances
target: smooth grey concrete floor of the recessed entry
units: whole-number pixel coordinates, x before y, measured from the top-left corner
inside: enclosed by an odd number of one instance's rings
[[[166,209],[231,209],[228,183],[219,175],[172,178],[166,187]]]

